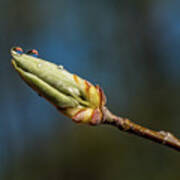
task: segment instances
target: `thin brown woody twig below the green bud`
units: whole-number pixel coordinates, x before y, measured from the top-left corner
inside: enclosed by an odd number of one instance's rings
[[[180,151],[180,139],[166,131],[154,131],[140,126],[127,118],[118,117],[112,114],[106,107],[103,108],[104,119],[102,124],[110,124],[122,131],[126,131],[154,142],[163,144],[177,151]]]

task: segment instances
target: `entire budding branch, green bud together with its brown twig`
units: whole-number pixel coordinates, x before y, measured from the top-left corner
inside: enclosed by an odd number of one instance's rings
[[[12,64],[21,78],[40,96],[53,104],[76,123],[110,124],[180,151],[180,139],[169,132],[153,131],[117,117],[106,107],[106,97],[99,86],[72,74],[62,66],[37,58],[37,51],[23,53],[20,47],[11,49]]]

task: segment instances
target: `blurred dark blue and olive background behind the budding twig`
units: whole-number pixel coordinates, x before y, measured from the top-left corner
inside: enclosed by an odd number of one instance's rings
[[[179,9],[178,0],[0,0],[0,179],[180,179],[178,152],[72,123],[19,78],[9,53],[35,48],[100,84],[115,114],[180,137]]]

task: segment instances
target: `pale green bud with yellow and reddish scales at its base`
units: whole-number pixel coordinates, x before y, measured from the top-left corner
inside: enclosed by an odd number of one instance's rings
[[[12,65],[39,95],[75,122],[99,124],[105,95],[99,86],[46,60],[11,49]]]

